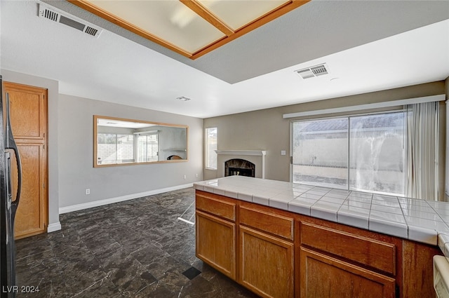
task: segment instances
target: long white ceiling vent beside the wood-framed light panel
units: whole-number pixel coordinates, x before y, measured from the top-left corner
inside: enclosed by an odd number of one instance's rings
[[[67,25],[94,37],[100,36],[102,32],[102,29],[88,25],[84,20],[75,18],[72,15],[60,13],[59,11],[55,11],[53,8],[48,8],[42,4],[39,4],[39,17]]]

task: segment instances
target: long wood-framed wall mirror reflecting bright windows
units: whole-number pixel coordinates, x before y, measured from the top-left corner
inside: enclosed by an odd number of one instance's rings
[[[187,161],[187,126],[93,116],[93,166]]]

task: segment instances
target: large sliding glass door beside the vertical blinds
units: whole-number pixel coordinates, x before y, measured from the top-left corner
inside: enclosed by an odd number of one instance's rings
[[[293,123],[293,182],[404,195],[406,114]]]

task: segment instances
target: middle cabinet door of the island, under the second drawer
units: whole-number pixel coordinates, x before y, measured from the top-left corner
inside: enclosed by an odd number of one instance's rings
[[[293,243],[240,226],[239,283],[262,297],[293,297]]]

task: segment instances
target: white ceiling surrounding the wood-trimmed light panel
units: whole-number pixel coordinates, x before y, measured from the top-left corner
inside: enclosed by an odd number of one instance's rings
[[[105,30],[95,39],[39,18],[39,1],[2,0],[0,67],[94,100],[207,118],[449,76],[449,1],[312,0],[193,61],[47,2]],[[294,72],[323,62],[327,76]]]

